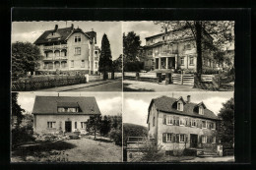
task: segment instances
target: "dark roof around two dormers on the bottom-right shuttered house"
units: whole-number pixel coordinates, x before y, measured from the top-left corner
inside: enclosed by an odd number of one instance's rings
[[[191,116],[191,117],[198,117],[198,118],[204,118],[204,119],[212,119],[212,120],[219,120],[218,117],[212,112],[211,110],[205,108],[204,115],[199,115],[197,112],[195,112],[194,108],[198,105],[196,103],[192,102],[186,102],[183,105],[183,111],[178,111],[175,107],[173,107],[173,104],[177,102],[176,98],[167,97],[167,96],[161,96],[159,98],[154,98],[151,101],[149,111],[151,109],[152,104],[154,103],[157,110],[160,110],[165,113],[174,113],[178,115],[184,115],[184,116]],[[149,118],[149,115],[148,115]],[[148,121],[147,121],[148,122]]]

